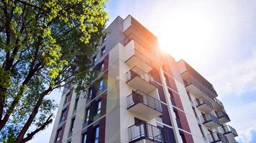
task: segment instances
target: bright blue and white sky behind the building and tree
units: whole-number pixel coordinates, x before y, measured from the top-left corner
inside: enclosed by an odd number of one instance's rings
[[[161,49],[214,85],[241,143],[256,142],[256,1],[109,0],[108,24],[131,14]],[[61,93],[52,97],[60,101]],[[56,112],[56,111],[55,111]],[[53,124],[31,142],[50,139]]]

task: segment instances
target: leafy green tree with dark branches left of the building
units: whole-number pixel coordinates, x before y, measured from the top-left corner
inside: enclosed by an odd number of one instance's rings
[[[0,1],[0,142],[27,142],[45,129],[56,107],[46,98],[52,90],[76,83],[77,93],[86,92],[105,3]]]

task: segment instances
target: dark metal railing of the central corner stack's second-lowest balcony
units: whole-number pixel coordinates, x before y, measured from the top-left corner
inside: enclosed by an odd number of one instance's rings
[[[127,109],[133,107],[136,104],[145,104],[147,107],[157,110],[158,112],[163,112],[161,107],[161,102],[154,97],[151,97],[140,90],[132,92],[127,97]]]

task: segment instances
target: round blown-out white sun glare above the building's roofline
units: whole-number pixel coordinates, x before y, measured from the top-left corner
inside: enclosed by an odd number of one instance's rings
[[[213,26],[201,14],[172,14],[160,25],[162,28],[157,30],[160,47],[176,59],[200,55],[214,34]]]

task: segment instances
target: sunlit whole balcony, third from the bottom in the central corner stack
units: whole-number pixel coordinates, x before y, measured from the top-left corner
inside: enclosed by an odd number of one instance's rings
[[[142,92],[149,93],[157,89],[155,87],[155,79],[147,74],[142,69],[134,66],[131,70],[127,71],[127,84],[134,89],[139,89]]]

